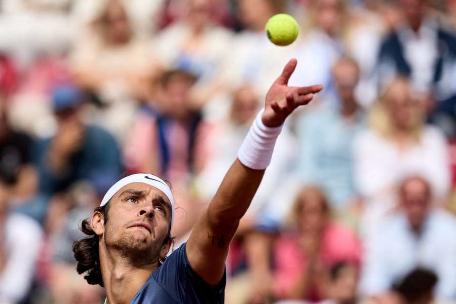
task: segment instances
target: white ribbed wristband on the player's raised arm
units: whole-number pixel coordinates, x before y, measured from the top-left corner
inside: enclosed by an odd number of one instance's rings
[[[244,166],[255,170],[266,169],[271,163],[276,139],[283,126],[270,128],[263,125],[261,121],[263,112],[264,109],[256,116],[238,153],[239,161]]]

